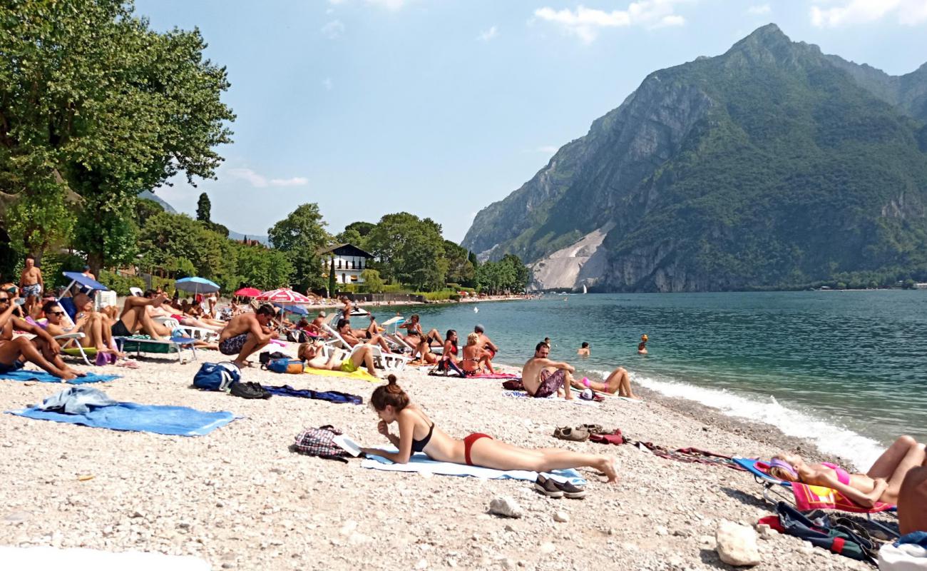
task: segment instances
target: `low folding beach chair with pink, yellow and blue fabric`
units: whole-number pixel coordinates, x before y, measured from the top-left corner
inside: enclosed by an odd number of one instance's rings
[[[800,482],[786,482],[768,474],[769,465],[764,461],[758,461],[751,458],[731,459],[737,465],[743,467],[747,472],[754,476],[758,484],[763,486],[763,499],[772,505],[779,501],[793,506],[799,512],[811,512],[814,510],[834,510],[838,512],[861,513],[865,514],[870,524],[881,528],[891,536],[897,536],[898,532],[882,522],[872,518],[873,513],[892,513],[895,514],[895,506],[881,501],[876,502],[871,508],[857,504],[856,502],[844,498],[844,496],[835,489],[823,486],[809,486]],[[787,489],[792,495],[784,493]],[[775,498],[773,498],[775,496]],[[896,514],[895,514],[895,517]]]

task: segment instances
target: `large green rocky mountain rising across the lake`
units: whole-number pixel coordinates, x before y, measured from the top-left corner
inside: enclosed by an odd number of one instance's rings
[[[768,24],[654,71],[462,245],[534,286],[700,292],[927,272],[927,66],[893,77]]]

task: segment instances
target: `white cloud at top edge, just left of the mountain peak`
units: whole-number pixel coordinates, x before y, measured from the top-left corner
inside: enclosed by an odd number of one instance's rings
[[[681,26],[686,20],[675,13],[676,4],[685,0],[639,0],[624,10],[604,10],[577,6],[576,10],[564,8],[554,10],[542,7],[534,11],[537,18],[562,26],[566,32],[576,35],[583,43],[591,44],[603,28],[627,28],[641,26],[648,30]]]

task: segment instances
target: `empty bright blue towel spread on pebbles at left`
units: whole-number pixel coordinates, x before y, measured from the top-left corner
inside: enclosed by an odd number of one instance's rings
[[[38,407],[7,410],[6,412],[38,421],[68,422],[92,428],[179,436],[208,435],[237,418],[231,412],[224,410],[204,412],[186,407],[138,405],[133,402],[95,407],[84,414],[63,414]]]

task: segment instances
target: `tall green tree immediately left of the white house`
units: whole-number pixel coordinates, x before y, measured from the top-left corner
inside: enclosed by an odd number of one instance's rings
[[[324,286],[323,261],[318,251],[328,243],[328,232],[319,205],[300,204],[286,218],[267,230],[273,247],[289,256],[293,266],[291,285],[303,292]]]

